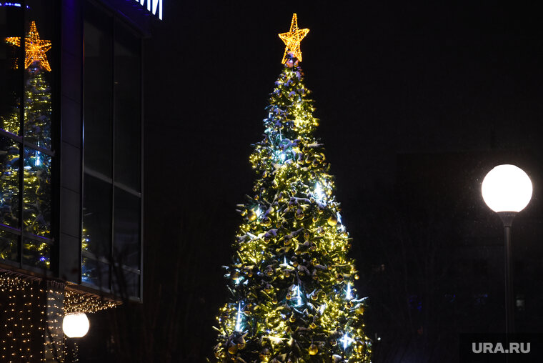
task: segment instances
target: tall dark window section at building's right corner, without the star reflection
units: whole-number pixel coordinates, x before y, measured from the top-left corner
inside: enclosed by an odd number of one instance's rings
[[[83,282],[111,289],[114,271],[115,293],[139,297],[141,35],[96,4],[84,16]]]

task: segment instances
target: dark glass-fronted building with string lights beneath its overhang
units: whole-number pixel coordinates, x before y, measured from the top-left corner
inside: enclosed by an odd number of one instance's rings
[[[161,16],[0,1],[2,362],[60,359],[64,312],[141,301],[142,46]]]

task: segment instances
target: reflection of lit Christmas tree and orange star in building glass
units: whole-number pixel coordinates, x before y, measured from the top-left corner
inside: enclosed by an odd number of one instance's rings
[[[21,46],[19,37],[6,42]],[[25,39],[24,63],[24,126],[21,130],[21,102],[15,102],[7,116],[0,116],[0,127],[14,135],[22,134],[26,145],[23,159],[23,213],[19,226],[19,159],[21,144],[11,139],[0,155],[0,222],[40,237],[51,237],[51,156],[39,151],[51,149],[51,88],[45,74],[51,71],[45,52],[51,41],[39,39],[34,21]],[[17,64],[15,68],[17,68]],[[35,149],[34,149],[34,147]],[[49,245],[44,242],[24,242],[24,259],[37,266],[49,267]],[[1,258],[10,258],[6,252]],[[12,257],[11,257],[12,258]],[[34,263],[33,262],[33,263]]]

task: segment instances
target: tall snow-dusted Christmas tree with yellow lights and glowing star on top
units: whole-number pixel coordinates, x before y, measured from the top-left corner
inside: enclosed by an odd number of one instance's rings
[[[231,299],[219,312],[218,362],[369,362],[364,299],[347,257],[349,234],[334,197],[318,119],[299,66],[294,14],[284,69],[269,97],[264,140],[250,156],[259,178],[226,267]]]

